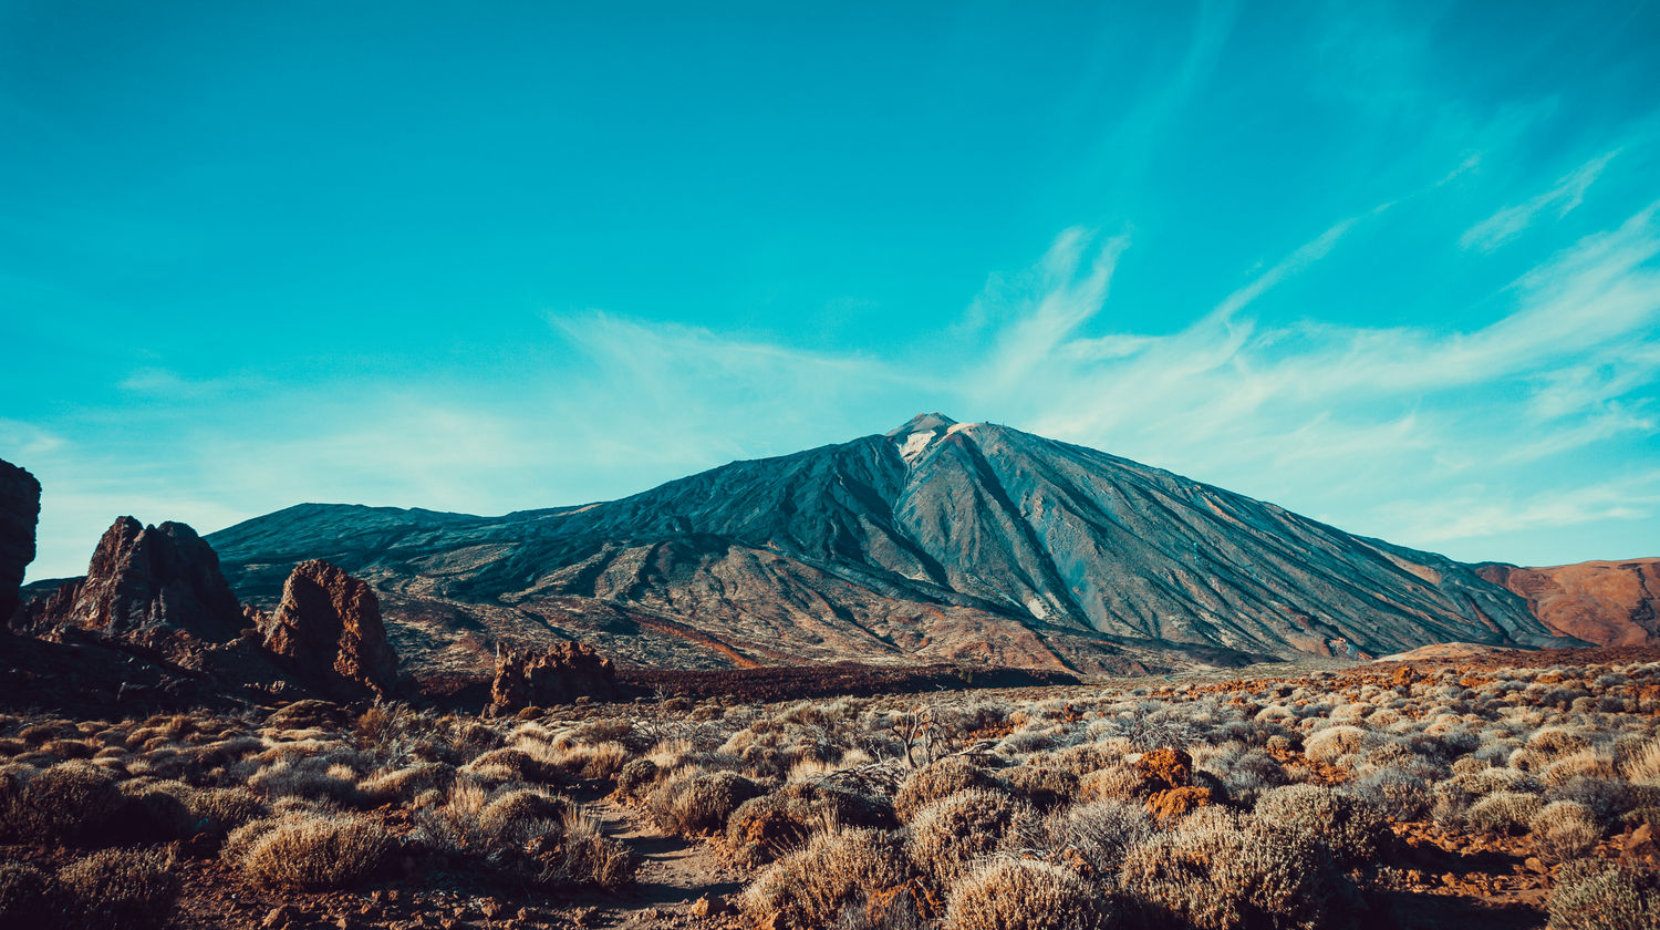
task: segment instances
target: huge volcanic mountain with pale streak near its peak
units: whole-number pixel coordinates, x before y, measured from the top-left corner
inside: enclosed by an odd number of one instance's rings
[[[208,536],[244,600],[324,558],[382,593],[407,661],[596,641],[637,664],[946,658],[1132,671],[1575,644],[1462,563],[993,423],[734,462],[584,507],[299,505]]]

